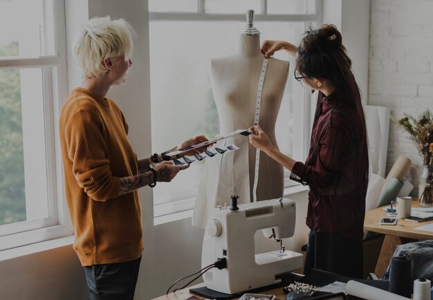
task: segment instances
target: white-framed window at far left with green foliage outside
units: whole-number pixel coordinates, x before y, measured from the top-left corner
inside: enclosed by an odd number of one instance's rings
[[[0,0],[0,250],[71,234],[56,159],[64,3]],[[60,174],[60,175],[59,175]]]

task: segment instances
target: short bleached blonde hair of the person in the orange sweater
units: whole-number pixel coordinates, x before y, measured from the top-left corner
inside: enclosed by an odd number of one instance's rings
[[[80,62],[85,78],[98,77],[107,72],[104,59],[125,55],[131,59],[136,32],[124,19],[94,17],[77,32],[74,54]]]

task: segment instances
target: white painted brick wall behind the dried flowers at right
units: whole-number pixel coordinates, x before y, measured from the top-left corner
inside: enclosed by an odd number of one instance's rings
[[[391,118],[433,111],[433,1],[371,0],[368,104]],[[407,178],[418,195],[421,156],[407,133],[390,123],[387,171],[399,155],[412,160]]]

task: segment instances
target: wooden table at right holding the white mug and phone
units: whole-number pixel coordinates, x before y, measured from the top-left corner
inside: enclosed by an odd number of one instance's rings
[[[386,205],[385,207],[389,207],[389,205]],[[412,200],[412,207],[419,207],[417,198]],[[399,219],[397,225],[379,225],[380,218],[383,216],[387,216],[387,214],[384,212],[383,207],[378,207],[367,211],[365,213],[364,221],[365,230],[385,234],[378,262],[376,263],[376,269],[374,270],[376,276],[382,276],[385,273],[385,270],[391,261],[392,254],[394,254],[394,251],[396,250],[396,246],[411,241],[433,239],[433,232],[425,232],[415,229],[415,227],[433,223],[433,221],[417,223],[406,221],[405,219]]]

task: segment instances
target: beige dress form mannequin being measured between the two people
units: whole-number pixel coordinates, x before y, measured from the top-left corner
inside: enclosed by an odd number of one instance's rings
[[[254,35],[248,32],[241,35],[236,55],[211,60],[210,84],[219,114],[221,135],[237,129],[248,129],[254,124],[257,86],[263,61],[258,31]],[[288,62],[269,58],[261,95],[259,125],[276,147],[275,122],[288,68]],[[232,194],[239,196],[239,204],[250,203],[253,199],[255,147],[250,145],[248,138],[229,138],[221,143],[221,146],[234,143],[240,149],[206,161],[194,207],[194,226],[205,228],[210,210],[224,203],[230,206]],[[283,190],[283,167],[261,153],[257,200],[282,197]]]

